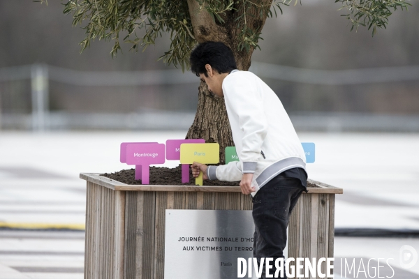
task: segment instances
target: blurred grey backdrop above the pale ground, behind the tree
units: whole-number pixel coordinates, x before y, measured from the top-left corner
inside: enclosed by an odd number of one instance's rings
[[[189,128],[198,82],[157,61],[167,37],[145,52],[123,45],[115,59],[112,42],[96,40],[80,54],[84,30],[72,27],[60,1],[0,5],[3,130]],[[297,130],[418,132],[419,7],[391,15],[374,38],[366,28],[350,32],[338,8],[311,0],[268,19],[251,71]]]

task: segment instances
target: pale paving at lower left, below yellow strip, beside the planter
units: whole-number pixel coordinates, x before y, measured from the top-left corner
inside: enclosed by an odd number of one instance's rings
[[[0,231],[1,279],[83,278],[84,232]]]

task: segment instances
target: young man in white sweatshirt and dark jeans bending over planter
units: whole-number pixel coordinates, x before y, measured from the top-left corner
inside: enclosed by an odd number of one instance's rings
[[[191,70],[210,92],[224,97],[240,158],[220,166],[193,163],[193,176],[202,171],[203,179],[240,181],[242,193],[253,196],[253,257],[284,257],[289,216],[307,192],[304,150],[293,124],[274,91],[253,73],[237,70],[223,43],[198,45]]]

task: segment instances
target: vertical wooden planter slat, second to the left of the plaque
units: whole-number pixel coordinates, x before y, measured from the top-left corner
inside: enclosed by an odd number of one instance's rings
[[[156,193],[145,192],[143,204],[142,279],[154,278],[154,220]]]

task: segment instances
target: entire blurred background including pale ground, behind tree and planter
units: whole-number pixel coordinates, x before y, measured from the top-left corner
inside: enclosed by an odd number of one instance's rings
[[[411,3],[374,38],[350,32],[338,3],[286,7],[267,19],[250,69],[277,93],[300,140],[316,144],[309,178],[344,188],[337,261],[393,258],[397,279],[419,278],[419,264],[399,262],[402,246],[419,251],[419,5]],[[63,8],[0,1],[1,279],[83,278],[78,174],[131,168],[119,163],[121,142],[183,138],[196,112],[198,78],[157,61],[166,36],[145,52],[123,45],[114,59],[112,42],[80,54],[84,31]]]

